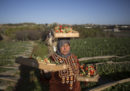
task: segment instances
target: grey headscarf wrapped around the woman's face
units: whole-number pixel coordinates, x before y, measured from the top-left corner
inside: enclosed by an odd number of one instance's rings
[[[56,53],[61,56],[61,57],[64,57],[64,58],[67,58],[68,56],[71,55],[71,53],[69,52],[68,54],[66,55],[63,55],[61,52],[60,52],[60,48],[65,44],[65,43],[68,43],[70,45],[70,39],[69,38],[60,38],[58,39],[58,43],[57,43],[57,51]]]

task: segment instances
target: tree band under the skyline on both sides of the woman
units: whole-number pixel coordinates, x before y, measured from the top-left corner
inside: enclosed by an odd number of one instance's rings
[[[3,24],[0,27],[0,33],[10,40],[44,40],[51,29],[54,29],[56,23],[53,24]],[[66,24],[62,24],[67,26]],[[104,27],[114,28],[115,26],[99,26],[99,25],[72,25],[72,28],[80,33],[81,38],[86,37],[117,37],[113,32],[104,32]],[[122,28],[120,28],[122,29]],[[129,29],[129,27],[128,27]],[[125,30],[128,30],[125,29]],[[0,38],[2,39],[2,37]]]

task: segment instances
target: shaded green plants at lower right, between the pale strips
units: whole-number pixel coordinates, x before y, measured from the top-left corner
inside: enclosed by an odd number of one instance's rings
[[[82,91],[86,91],[87,89],[93,88],[95,86],[103,85],[105,83],[109,83],[112,81],[118,81],[121,79],[129,78],[130,77],[130,64],[99,64],[97,65],[97,73],[100,75],[99,82],[94,83],[81,83]],[[122,86],[119,86],[122,87]],[[116,87],[112,87],[116,88]],[[122,87],[125,89],[125,87]],[[126,87],[126,89],[128,89]],[[105,91],[115,91],[115,90],[105,90]],[[119,90],[116,90],[119,91]],[[123,91],[123,90],[121,90]],[[127,91],[127,90],[124,90]]]

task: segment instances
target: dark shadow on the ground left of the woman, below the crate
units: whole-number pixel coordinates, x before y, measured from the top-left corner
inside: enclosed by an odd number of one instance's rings
[[[37,65],[37,63],[35,64]],[[20,79],[16,83],[14,91],[49,90],[49,80],[44,79],[44,74],[41,73],[41,70],[25,65],[20,65],[19,70],[20,70]]]

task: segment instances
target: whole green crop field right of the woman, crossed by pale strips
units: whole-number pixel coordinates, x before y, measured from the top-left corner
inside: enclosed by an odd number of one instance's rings
[[[130,38],[86,38],[71,40],[71,51],[78,56],[94,57],[94,56],[126,56],[122,58],[94,59],[80,62],[80,64],[96,64],[100,62],[126,62],[130,61]],[[99,64],[97,72],[104,82],[81,83],[82,90],[93,88],[95,86],[117,81],[130,77],[130,64]],[[111,90],[109,90],[111,91]]]

